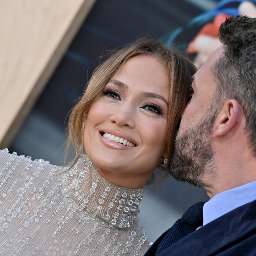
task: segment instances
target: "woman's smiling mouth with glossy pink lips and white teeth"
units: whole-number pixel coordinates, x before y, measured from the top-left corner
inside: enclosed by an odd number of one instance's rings
[[[136,147],[136,144],[132,142],[132,139],[128,138],[128,136],[121,134],[117,131],[108,131],[108,132],[100,132],[101,138],[104,138],[104,142],[111,147],[115,148],[127,148],[127,147]],[[103,139],[102,138],[102,139]]]

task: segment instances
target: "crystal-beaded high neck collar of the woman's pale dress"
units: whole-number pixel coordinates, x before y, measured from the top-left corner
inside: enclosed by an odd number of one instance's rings
[[[121,229],[139,222],[143,190],[110,183],[101,176],[87,155],[60,176],[59,184],[74,211],[79,211],[85,222],[98,219]]]

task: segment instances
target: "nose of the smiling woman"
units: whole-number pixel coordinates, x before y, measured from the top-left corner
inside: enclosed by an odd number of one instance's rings
[[[129,128],[135,127],[135,109],[128,105],[121,105],[116,109],[110,117],[112,123],[118,126],[128,126]]]

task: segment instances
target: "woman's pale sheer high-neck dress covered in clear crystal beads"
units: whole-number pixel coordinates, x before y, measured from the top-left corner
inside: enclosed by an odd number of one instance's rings
[[[63,171],[0,151],[0,255],[143,255],[143,190],[109,183],[86,155]]]

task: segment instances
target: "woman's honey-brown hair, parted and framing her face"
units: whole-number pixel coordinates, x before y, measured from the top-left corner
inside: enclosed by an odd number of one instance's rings
[[[72,109],[68,121],[68,146],[72,144],[76,156],[69,166],[74,166],[83,154],[83,120],[91,105],[102,94],[102,90],[117,70],[133,56],[149,55],[161,60],[169,71],[169,107],[167,120],[166,149],[167,158],[172,155],[173,141],[181,113],[188,101],[189,85],[196,68],[183,53],[164,45],[162,42],[141,39],[113,53],[96,68],[88,83],[87,89],[79,102]]]

